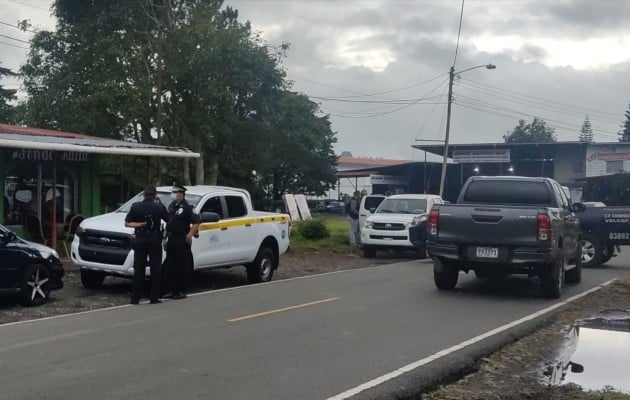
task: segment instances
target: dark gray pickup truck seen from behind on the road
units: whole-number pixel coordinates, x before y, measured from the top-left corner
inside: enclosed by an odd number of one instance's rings
[[[427,219],[427,253],[439,289],[457,285],[459,271],[480,278],[539,276],[542,294],[558,298],[564,282],[579,283],[580,224],[553,179],[471,177],[457,204],[434,206]]]

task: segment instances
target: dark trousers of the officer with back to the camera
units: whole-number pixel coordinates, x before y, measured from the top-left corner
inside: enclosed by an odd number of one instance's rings
[[[133,241],[133,293],[132,299],[142,297],[144,270],[149,259],[151,271],[151,300],[160,297],[160,274],[162,268],[162,242],[159,238],[136,237]]]

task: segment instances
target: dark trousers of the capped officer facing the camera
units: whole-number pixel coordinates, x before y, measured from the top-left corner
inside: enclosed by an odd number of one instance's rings
[[[169,288],[175,293],[186,293],[188,272],[193,268],[192,251],[186,243],[186,235],[169,236],[164,264],[168,271]]]

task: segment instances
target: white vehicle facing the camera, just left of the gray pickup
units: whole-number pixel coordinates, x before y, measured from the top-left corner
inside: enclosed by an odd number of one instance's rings
[[[378,250],[408,249],[417,251],[420,258],[426,258],[424,247],[416,247],[411,242],[409,228],[426,220],[434,204],[442,204],[442,198],[432,194],[387,197],[361,227],[363,255],[373,258]]]

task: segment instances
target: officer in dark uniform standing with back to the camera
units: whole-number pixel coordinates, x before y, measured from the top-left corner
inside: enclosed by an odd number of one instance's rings
[[[133,293],[131,304],[138,304],[142,297],[144,270],[147,256],[151,271],[151,304],[160,303],[160,281],[162,268],[162,221],[168,220],[166,208],[157,201],[157,190],[153,185],[144,189],[144,200],[133,203],[125,217],[125,226],[135,229],[133,239]]]

